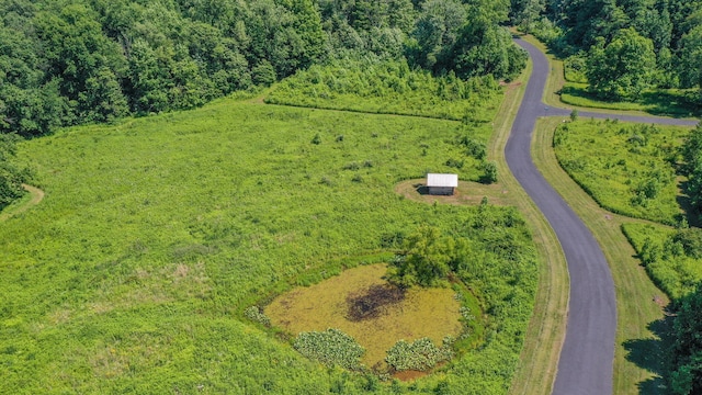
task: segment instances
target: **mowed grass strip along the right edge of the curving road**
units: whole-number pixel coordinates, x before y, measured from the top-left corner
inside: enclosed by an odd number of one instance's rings
[[[562,122],[546,119],[537,123],[532,155],[544,177],[591,229],[610,262],[618,308],[614,393],[663,393],[667,345],[660,338],[660,327],[665,326],[663,306],[668,298],[646,275],[635,258],[636,251],[621,232],[623,224],[644,222],[601,208],[561,168],[551,146],[553,131]]]

